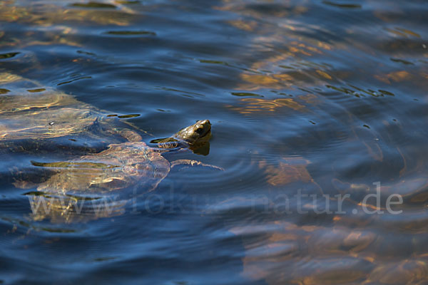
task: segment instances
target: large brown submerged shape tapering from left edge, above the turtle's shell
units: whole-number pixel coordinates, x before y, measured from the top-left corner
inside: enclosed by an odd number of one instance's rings
[[[23,150],[26,145],[27,151],[46,150],[47,145],[64,143],[71,147],[90,146],[91,139],[98,147],[93,151],[98,151],[107,144],[99,145],[103,140],[138,142],[142,140],[140,133],[145,133],[119,120],[126,115],[109,115],[72,95],[10,73],[0,73],[0,104],[3,149]],[[68,140],[52,144],[50,139],[55,138]]]

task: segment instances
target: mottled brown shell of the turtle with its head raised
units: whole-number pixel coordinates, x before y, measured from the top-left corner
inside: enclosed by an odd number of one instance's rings
[[[148,192],[170,171],[170,162],[144,142],[112,144],[107,150],[77,160],[33,165],[56,172],[37,190],[61,195],[106,193],[136,185],[140,191]]]

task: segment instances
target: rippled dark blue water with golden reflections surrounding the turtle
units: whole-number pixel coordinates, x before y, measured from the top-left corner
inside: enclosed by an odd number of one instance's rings
[[[66,94],[147,143],[209,119],[209,154],[165,157],[225,169],[43,216],[50,176],[31,162],[123,140],[2,140],[0,283],[427,284],[426,15],[418,0],[0,1],[16,108]]]

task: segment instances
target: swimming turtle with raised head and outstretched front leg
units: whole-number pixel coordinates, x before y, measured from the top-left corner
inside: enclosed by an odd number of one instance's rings
[[[165,152],[195,150],[208,144],[211,138],[209,120],[198,120],[195,124],[183,128],[170,138],[157,140],[158,145],[151,147],[146,142],[122,142],[108,145],[106,150],[83,155],[62,162],[35,162],[34,167],[54,172],[45,182],[39,183],[36,192],[29,192],[34,219],[50,217],[53,222],[76,222],[81,219],[111,217],[123,210],[124,200],[111,202],[114,195],[125,189],[138,191],[138,195],[151,192],[177,165],[203,166],[223,170],[197,160],[168,161]],[[16,187],[34,187],[31,182],[16,180]],[[134,193],[135,194],[135,193]],[[95,202],[96,212],[79,216],[83,206],[79,203]],[[106,202],[107,201],[107,202]],[[40,205],[43,204],[43,207]],[[49,207],[49,209],[47,208]],[[89,207],[91,208],[91,207]],[[92,208],[93,209],[93,208]],[[114,209],[114,212],[113,212]],[[77,212],[77,214],[76,214]]]

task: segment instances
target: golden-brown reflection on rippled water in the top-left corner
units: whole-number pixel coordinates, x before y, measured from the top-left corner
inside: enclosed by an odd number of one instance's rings
[[[78,23],[129,26],[137,19],[141,19],[141,15],[136,15],[131,8],[121,4],[120,1],[103,1],[104,4],[109,5],[108,9],[93,9],[96,6],[73,6],[65,2],[52,3],[54,2],[47,4],[43,1],[34,1],[33,4],[26,3],[25,6],[20,6],[16,0],[1,1],[1,21],[34,25],[36,28],[24,32],[24,35],[9,34],[4,41],[1,40],[4,31],[1,31],[0,46],[63,44],[81,47],[84,43],[76,36],[79,33],[78,28],[73,27]],[[43,38],[38,38],[37,32],[43,32]]]

